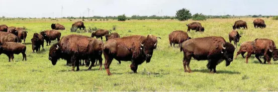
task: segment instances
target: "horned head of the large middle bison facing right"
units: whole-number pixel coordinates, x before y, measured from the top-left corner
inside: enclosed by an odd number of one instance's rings
[[[141,49],[143,51],[143,55],[146,57],[146,62],[150,62],[151,57],[152,57],[152,53],[153,53],[153,49],[156,48],[157,45],[157,38],[160,37],[156,37],[154,35],[149,34],[147,36],[147,38],[145,38],[141,44]],[[160,38],[161,39],[161,38]]]

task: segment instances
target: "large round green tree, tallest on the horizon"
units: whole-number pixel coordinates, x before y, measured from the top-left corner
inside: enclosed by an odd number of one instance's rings
[[[175,15],[176,15],[176,18],[180,21],[188,20],[191,18],[191,12],[190,12],[190,10],[188,10],[186,8],[177,10]]]

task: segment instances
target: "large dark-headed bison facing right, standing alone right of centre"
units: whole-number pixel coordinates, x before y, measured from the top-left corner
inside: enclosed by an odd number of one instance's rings
[[[191,72],[189,64],[191,57],[193,57],[197,60],[209,60],[207,67],[211,73],[215,73],[216,65],[224,59],[226,60],[226,66],[230,65],[233,61],[235,47],[221,36],[208,36],[182,42],[180,51],[183,51],[184,72]]]

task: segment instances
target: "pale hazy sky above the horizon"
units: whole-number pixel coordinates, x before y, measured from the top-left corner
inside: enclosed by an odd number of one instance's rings
[[[278,15],[277,3],[278,0],[0,0],[0,16],[175,16],[181,8],[192,14]]]

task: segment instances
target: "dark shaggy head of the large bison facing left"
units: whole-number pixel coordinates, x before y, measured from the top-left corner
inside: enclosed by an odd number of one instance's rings
[[[58,43],[53,44],[49,48],[49,57],[48,59],[51,60],[52,64],[55,65],[60,58],[61,48],[59,47]]]

